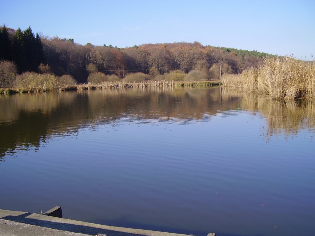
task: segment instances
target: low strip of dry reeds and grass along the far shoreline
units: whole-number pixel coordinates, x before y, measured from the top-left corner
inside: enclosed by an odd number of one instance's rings
[[[0,88],[0,94],[14,93],[33,93],[49,91],[74,91],[74,90],[93,90],[93,89],[112,89],[112,88],[132,88],[132,87],[212,87],[221,85],[221,81],[198,81],[198,82],[174,82],[174,81],[143,81],[143,82],[124,82],[124,81],[105,81],[102,83],[87,83],[68,85],[56,83],[57,86],[32,86],[20,88]]]

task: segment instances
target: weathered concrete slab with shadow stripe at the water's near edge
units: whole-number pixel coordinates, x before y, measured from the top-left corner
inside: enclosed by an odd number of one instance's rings
[[[152,230],[93,224],[89,222],[57,218],[30,212],[8,211],[1,209],[0,220],[1,235],[10,236],[15,235],[189,236],[186,234],[167,233]],[[2,232],[5,232],[5,234]],[[29,232],[29,234],[26,234],[25,232]],[[215,236],[215,234],[213,236]]]

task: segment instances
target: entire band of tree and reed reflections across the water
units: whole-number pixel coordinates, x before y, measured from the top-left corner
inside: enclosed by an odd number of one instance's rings
[[[1,96],[0,108],[2,157],[22,147],[38,148],[49,134],[66,135],[80,126],[126,116],[182,122],[242,109],[266,119],[261,135],[267,140],[281,133],[294,137],[301,129],[315,127],[314,99],[271,100],[227,88],[222,93],[219,88],[139,88],[19,94]]]

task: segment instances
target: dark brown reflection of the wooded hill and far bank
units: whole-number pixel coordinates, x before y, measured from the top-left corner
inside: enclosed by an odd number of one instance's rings
[[[218,89],[112,89],[1,96],[0,155],[38,147],[47,135],[65,135],[85,125],[125,117],[153,120],[201,119],[218,112]],[[237,106],[230,100],[220,109]]]

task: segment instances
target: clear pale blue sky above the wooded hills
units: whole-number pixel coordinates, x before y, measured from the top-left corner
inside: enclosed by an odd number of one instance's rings
[[[311,60],[315,1],[3,1],[0,24],[94,45],[194,42]]]

